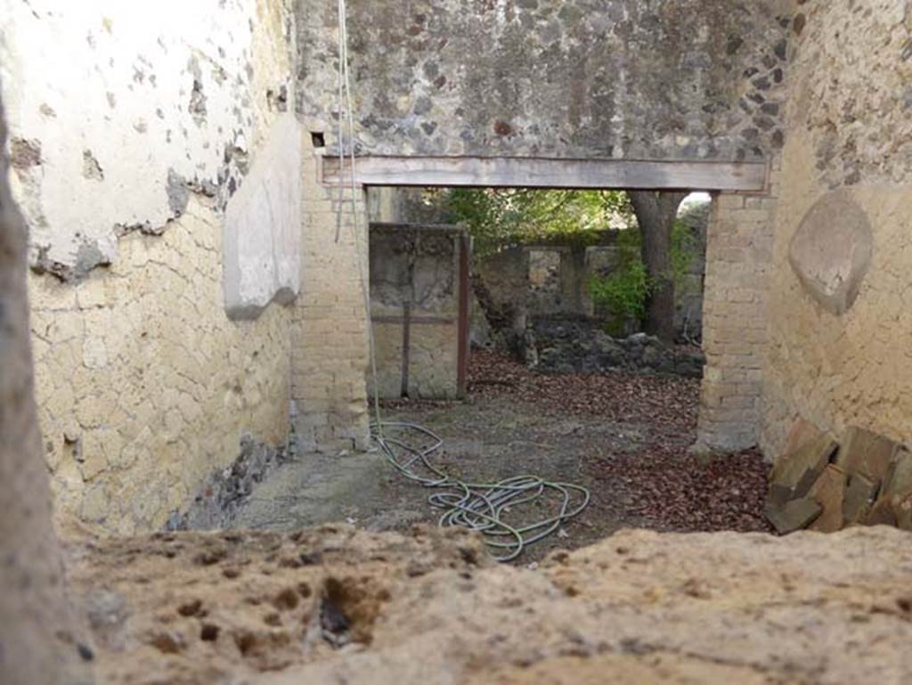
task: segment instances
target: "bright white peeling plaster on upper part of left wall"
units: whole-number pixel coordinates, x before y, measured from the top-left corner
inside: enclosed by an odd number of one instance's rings
[[[78,279],[190,191],[222,208],[290,97],[292,25],[284,0],[0,0],[32,265]]]

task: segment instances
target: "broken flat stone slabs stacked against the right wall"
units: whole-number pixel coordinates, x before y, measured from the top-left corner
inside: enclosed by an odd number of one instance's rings
[[[886,524],[912,531],[912,453],[871,431],[842,439],[798,420],[772,467],[766,514],[782,533]]]

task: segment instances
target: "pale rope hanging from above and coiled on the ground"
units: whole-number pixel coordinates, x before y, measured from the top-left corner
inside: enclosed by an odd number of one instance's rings
[[[523,554],[528,545],[553,535],[561,526],[581,514],[590,500],[585,487],[572,483],[546,481],[534,475],[517,475],[496,483],[467,483],[452,478],[431,461],[440,451],[443,441],[433,431],[422,426],[384,421],[380,411],[378,391],[377,350],[373,323],[370,320],[370,289],[364,273],[366,253],[361,243],[361,213],[358,211],[358,172],[355,150],[355,115],[351,95],[351,77],[348,71],[348,26],[346,0],[338,0],[338,146],[339,169],[346,161],[345,133],[348,134],[349,163],[351,171],[352,230],[361,295],[364,298],[368,327],[370,373],[373,380],[374,420],[370,438],[383,451],[387,461],[409,481],[440,490],[428,497],[434,508],[440,509],[441,526],[459,525],[484,536],[498,561],[511,561]],[[347,131],[346,131],[347,129]],[[344,191],[343,191],[344,192]],[[341,212],[337,223],[336,242],[341,234]],[[367,235],[367,226],[363,226]],[[540,503],[551,496],[557,500],[557,513],[527,524],[511,524],[507,514],[515,513],[523,504]]]

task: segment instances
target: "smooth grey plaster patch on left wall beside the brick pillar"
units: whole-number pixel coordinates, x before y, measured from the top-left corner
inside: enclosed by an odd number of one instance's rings
[[[229,317],[255,318],[301,289],[301,127],[276,120],[225,211],[224,289]]]

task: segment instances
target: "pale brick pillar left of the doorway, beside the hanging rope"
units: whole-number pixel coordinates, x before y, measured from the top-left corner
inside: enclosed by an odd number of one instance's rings
[[[304,144],[302,282],[292,334],[293,424],[304,451],[362,449],[368,439],[368,329],[360,281],[362,274],[368,278],[367,196],[358,189],[356,222],[351,189],[324,186],[317,178],[315,150],[309,140]]]

